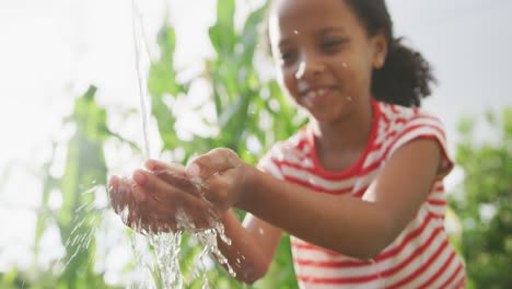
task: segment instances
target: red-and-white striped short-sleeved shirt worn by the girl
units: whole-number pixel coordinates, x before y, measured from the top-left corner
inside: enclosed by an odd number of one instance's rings
[[[419,108],[372,101],[373,125],[359,161],[342,172],[325,171],[315,157],[312,128],[277,143],[259,166],[317,193],[361,198],[386,160],[405,143],[434,139],[443,158],[426,201],[398,238],[370,261],[351,258],[291,236],[301,288],[462,288],[465,269],[444,230],[443,177],[452,170],[440,120]]]

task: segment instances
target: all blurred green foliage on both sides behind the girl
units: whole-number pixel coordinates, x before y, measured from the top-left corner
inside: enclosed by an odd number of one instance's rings
[[[221,4],[220,4],[221,3]],[[209,30],[216,56],[205,60],[201,78],[211,84],[211,97],[197,105],[198,114],[208,105],[214,106],[214,122],[203,118],[207,127],[220,131],[213,137],[194,135],[183,140],[175,132],[176,117],[170,99],[186,97],[196,79],[178,82],[174,54],[176,36],[174,27],[164,23],[158,34],[160,58],[153,59],[148,78],[151,95],[151,116],[156,120],[162,152],[186,163],[194,154],[205,153],[214,147],[235,150],[246,162],[257,160],[277,140],[291,136],[304,124],[304,118],[280,92],[274,80],[264,81],[255,69],[259,43],[258,25],[265,16],[266,5],[253,11],[242,30],[234,25],[234,0],[219,1],[217,22]],[[95,269],[101,258],[96,251],[97,228],[103,215],[109,208],[92,206],[95,194],[106,194],[101,186],[106,184],[107,165],[105,142],[112,139],[141,153],[133,142],[124,139],[107,126],[107,113],[95,102],[96,88],[91,86],[77,97],[73,113],[65,119],[74,128],[69,140],[66,173],[61,177],[49,174],[56,162],[53,155],[40,167],[44,188],[43,203],[37,211],[34,240],[34,259],[37,259],[38,244],[49,224],[57,224],[60,239],[66,245],[65,257],[56,261],[48,269],[33,268],[0,274],[0,288],[116,288],[105,284],[104,271]],[[451,207],[464,227],[462,235],[454,235],[461,254],[466,259],[469,288],[512,288],[512,109],[500,115],[489,114],[490,129],[498,139],[492,143],[476,146],[473,138],[473,123],[461,125],[462,141],[457,148],[457,163],[466,173],[464,185],[451,197]],[[260,150],[251,151],[249,143],[257,143]],[[57,144],[56,144],[57,146]],[[182,152],[177,152],[179,149]],[[56,150],[56,149],[55,149]],[[96,184],[93,189],[89,189]],[[88,190],[89,189],[89,190]],[[49,207],[50,194],[58,192],[62,198],[59,210]],[[85,193],[84,193],[85,192]],[[493,215],[485,218],[482,205],[491,208]],[[242,219],[244,212],[237,211]],[[84,236],[84,240],[78,238]],[[185,235],[182,244],[183,274],[190,277],[189,265],[200,253],[200,246],[191,246]],[[54,270],[56,267],[61,270]],[[67,266],[61,266],[67,264]],[[129,268],[127,268],[128,270]],[[243,285],[230,278],[220,267],[208,273],[213,288],[242,288]],[[201,288],[198,279],[187,288]],[[254,286],[244,288],[296,288],[295,275],[290,257],[288,236],[282,239],[277,256],[267,276]]]

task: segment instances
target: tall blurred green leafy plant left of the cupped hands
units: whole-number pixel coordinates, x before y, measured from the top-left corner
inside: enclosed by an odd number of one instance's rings
[[[94,226],[98,212],[89,206],[94,200],[90,190],[94,184],[106,184],[103,141],[106,139],[106,113],[94,100],[96,88],[91,86],[77,99],[69,119],[77,129],[68,144],[65,175],[60,180],[62,207],[57,215],[61,240],[66,245],[67,266],[57,288],[105,288],[102,276],[93,270]],[[90,192],[88,192],[90,190]],[[84,209],[86,208],[86,209]]]

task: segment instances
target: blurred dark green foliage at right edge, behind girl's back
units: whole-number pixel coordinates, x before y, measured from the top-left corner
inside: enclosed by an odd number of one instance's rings
[[[512,288],[512,107],[487,114],[491,139],[478,141],[475,127],[470,118],[459,124],[456,163],[465,181],[450,199],[464,227],[456,243],[468,288]]]

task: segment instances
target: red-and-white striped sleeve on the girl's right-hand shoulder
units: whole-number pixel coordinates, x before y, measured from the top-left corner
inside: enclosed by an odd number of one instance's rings
[[[444,127],[438,117],[431,115],[419,114],[409,119],[402,131],[396,136],[386,159],[393,155],[393,153],[404,144],[417,139],[432,139],[438,142],[442,152],[438,177],[446,176],[453,170],[454,162],[450,158],[447,151]]]

